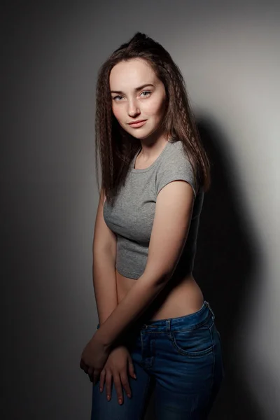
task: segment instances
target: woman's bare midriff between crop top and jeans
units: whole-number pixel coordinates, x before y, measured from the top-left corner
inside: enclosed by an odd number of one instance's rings
[[[118,290],[118,303],[127,295],[130,289],[137,282],[136,279],[130,279],[123,276],[116,270],[116,281]],[[158,319],[177,318],[193,314],[199,311],[204,302],[204,296],[200,286],[189,274],[182,279],[176,279],[172,283],[169,279],[167,286],[160,293],[159,298],[156,297],[151,303],[151,314],[148,319],[156,321]]]

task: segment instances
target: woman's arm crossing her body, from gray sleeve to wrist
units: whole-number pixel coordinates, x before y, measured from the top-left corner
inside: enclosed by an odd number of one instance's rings
[[[106,346],[148,309],[171,279],[188,236],[193,197],[193,188],[184,181],[171,182],[158,194],[144,274],[95,333]]]

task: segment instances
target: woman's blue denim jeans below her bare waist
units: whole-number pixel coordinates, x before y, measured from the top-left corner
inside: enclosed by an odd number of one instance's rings
[[[148,321],[135,328],[127,344],[137,375],[132,379],[127,374],[132,398],[123,389],[119,405],[112,384],[107,401],[105,386],[100,393],[97,381],[92,386],[91,420],[144,419],[151,391],[155,419],[207,419],[224,377],[221,337],[214,319],[204,300],[193,314]]]

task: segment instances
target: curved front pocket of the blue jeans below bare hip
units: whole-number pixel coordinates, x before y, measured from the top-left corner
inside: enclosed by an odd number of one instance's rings
[[[202,357],[214,351],[214,342],[207,324],[189,330],[173,331],[172,344],[178,353],[189,357]]]

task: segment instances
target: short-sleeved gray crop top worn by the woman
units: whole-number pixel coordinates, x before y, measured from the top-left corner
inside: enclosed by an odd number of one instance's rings
[[[131,279],[138,279],[144,273],[158,193],[167,183],[181,179],[193,187],[195,203],[188,238],[176,269],[180,269],[180,275],[190,274],[193,272],[204,192],[202,188],[198,192],[195,190],[193,169],[180,140],[167,141],[148,168],[134,169],[140,150],[131,162],[125,185],[120,188],[114,206],[109,206],[107,201],[104,203],[104,221],[117,237],[116,269]]]

